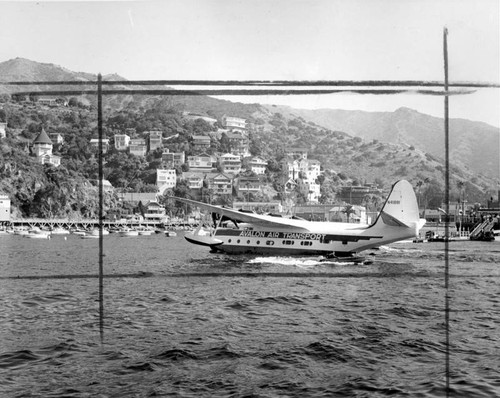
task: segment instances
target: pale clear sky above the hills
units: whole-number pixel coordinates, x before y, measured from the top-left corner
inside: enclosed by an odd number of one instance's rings
[[[2,1],[0,62],[22,57],[126,79],[500,81],[498,0]],[[231,99],[229,97],[225,97]],[[232,97],[296,108],[444,114],[441,97]],[[500,126],[500,89],[450,117]]]

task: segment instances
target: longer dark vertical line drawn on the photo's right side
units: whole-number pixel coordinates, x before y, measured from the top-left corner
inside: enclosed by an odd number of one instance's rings
[[[448,92],[448,29],[443,30],[443,56],[444,56],[444,145],[445,145],[445,227],[444,227],[444,287],[445,287],[445,324],[446,324],[446,396],[450,394],[450,259],[449,259],[449,214],[450,214],[450,134],[449,134],[449,98]]]

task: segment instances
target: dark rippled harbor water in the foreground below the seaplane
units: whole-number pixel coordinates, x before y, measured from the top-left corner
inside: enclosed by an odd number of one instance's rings
[[[446,395],[443,244],[354,265],[104,239],[101,341],[98,241],[0,236],[1,396]],[[500,242],[449,260],[450,396],[500,396]]]

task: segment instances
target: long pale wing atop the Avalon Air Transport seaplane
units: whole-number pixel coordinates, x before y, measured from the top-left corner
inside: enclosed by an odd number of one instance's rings
[[[221,206],[209,205],[208,203],[202,203],[202,202],[197,202],[196,200],[177,198],[173,196],[170,197],[170,199],[175,199],[179,202],[199,207],[200,209],[206,210],[210,213],[217,213],[220,214],[221,216],[226,216],[231,220],[258,225],[260,227],[279,228],[281,230],[292,229],[294,231],[309,232],[309,228],[307,228],[304,225],[301,225],[308,223],[308,221],[304,220],[292,220],[289,218],[273,217],[262,214],[244,213],[234,209],[226,209]]]

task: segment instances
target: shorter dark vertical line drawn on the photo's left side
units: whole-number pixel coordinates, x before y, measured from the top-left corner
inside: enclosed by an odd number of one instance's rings
[[[103,205],[104,205],[104,197],[103,197],[103,131],[102,131],[102,76],[99,73],[97,75],[97,131],[99,134],[99,143],[98,143],[98,152],[99,152],[99,332],[101,337],[101,343],[104,339],[104,299],[103,299],[103,291],[104,291],[104,283],[103,283]]]

